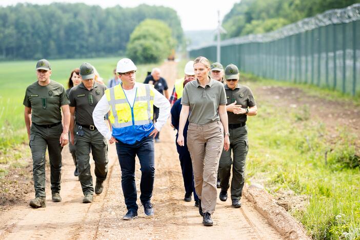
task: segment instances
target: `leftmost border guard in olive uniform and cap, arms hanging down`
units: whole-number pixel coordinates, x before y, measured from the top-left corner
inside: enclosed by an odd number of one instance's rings
[[[68,144],[70,123],[69,99],[63,85],[50,79],[51,67],[46,59],[36,64],[37,82],[26,89],[25,125],[29,137],[33,161],[35,199],[33,208],[44,208],[45,203],[45,153],[48,148],[50,159],[50,182],[52,201],[61,202],[61,166],[63,147]],[[64,126],[62,114],[64,114]]]

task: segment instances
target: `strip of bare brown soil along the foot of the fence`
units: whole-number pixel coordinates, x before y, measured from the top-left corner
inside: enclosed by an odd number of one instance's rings
[[[258,103],[267,103],[287,112],[296,110],[305,113],[304,117],[313,123],[324,124],[325,137],[330,143],[336,143],[342,130],[346,129],[355,137],[356,146],[360,147],[360,106],[350,101],[310,95],[295,87],[262,86],[254,92]]]

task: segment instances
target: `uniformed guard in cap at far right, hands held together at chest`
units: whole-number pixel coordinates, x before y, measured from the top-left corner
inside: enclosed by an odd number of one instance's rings
[[[219,161],[221,191],[219,198],[228,198],[230,170],[232,165],[231,202],[234,208],[241,207],[241,196],[245,182],[245,161],[248,154],[247,116],[255,116],[257,107],[249,87],[238,84],[239,71],[233,64],[225,68],[226,111],[229,119],[230,149],[224,151]],[[231,150],[233,159],[231,159]]]

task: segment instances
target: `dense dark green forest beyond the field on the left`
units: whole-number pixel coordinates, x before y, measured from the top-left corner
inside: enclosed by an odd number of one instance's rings
[[[177,43],[183,43],[180,19],[168,7],[103,9],[62,3],[1,7],[0,59],[121,55],[134,28],[147,18],[166,23]]]

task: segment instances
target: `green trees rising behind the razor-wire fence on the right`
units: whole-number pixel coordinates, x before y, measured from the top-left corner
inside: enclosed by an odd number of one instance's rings
[[[223,38],[265,33],[360,0],[242,0],[225,15]]]

